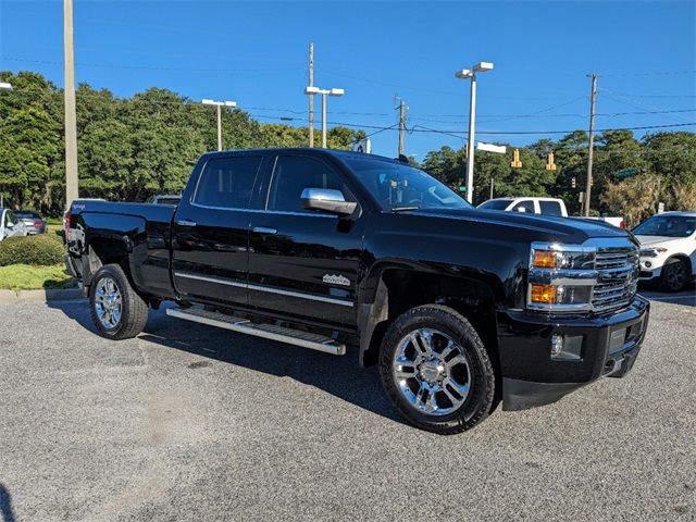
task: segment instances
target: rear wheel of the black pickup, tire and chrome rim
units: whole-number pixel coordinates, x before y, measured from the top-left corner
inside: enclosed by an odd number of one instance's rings
[[[148,304],[135,291],[119,264],[105,264],[92,278],[89,313],[102,337],[128,339],[145,328]]]

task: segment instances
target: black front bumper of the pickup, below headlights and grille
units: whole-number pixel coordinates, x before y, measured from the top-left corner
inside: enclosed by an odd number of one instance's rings
[[[548,405],[601,376],[624,376],[641,350],[649,308],[636,296],[625,309],[595,316],[499,311],[502,408]],[[555,334],[582,337],[580,358],[554,359]]]

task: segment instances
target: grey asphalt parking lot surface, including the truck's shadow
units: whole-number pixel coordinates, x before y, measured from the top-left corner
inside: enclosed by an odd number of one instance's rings
[[[626,378],[442,437],[352,355],[0,304],[0,521],[694,520],[695,338],[696,302],[655,300]]]

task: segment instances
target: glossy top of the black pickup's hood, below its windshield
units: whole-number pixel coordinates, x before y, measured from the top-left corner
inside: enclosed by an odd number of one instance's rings
[[[582,244],[593,237],[625,237],[633,239],[633,235],[613,225],[581,217],[561,217],[551,215],[526,214],[521,212],[506,212],[483,209],[419,209],[411,211],[413,215],[428,215],[458,220],[482,225],[502,225],[521,228],[527,233],[537,232],[545,236],[539,240],[554,240]],[[635,239],[633,239],[635,243]]]

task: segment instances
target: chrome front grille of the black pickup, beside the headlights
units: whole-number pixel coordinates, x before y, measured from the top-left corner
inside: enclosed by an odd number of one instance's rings
[[[595,254],[595,270],[594,311],[611,310],[631,302],[637,291],[639,271],[636,247],[599,248]]]

